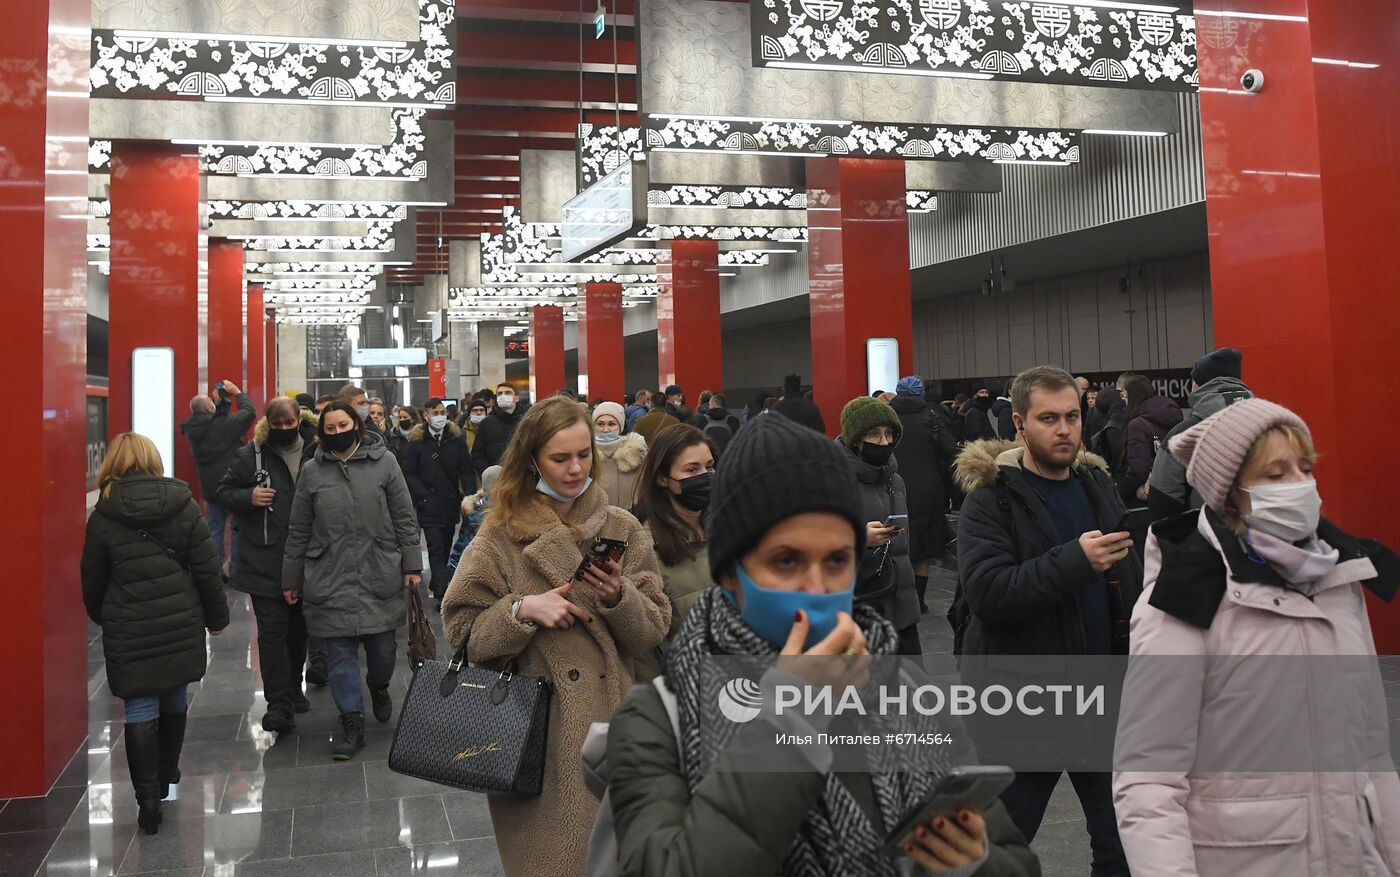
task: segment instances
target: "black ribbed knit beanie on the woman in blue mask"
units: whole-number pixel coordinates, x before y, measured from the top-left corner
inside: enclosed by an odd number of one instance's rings
[[[734,569],[774,524],[806,511],[830,511],[855,528],[865,551],[861,489],[850,454],[822,433],[764,415],[729,441],[715,472],[706,524],[710,574]]]

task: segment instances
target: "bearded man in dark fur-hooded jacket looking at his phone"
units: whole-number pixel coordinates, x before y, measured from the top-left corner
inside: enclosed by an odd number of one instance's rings
[[[1074,378],[1036,367],[1012,384],[1025,447],[974,443],[958,458],[969,496],[958,569],[970,616],[965,656],[1126,654],[1142,566],[1102,461],[1081,446]],[[994,754],[983,752],[988,761]],[[1071,773],[1088,822],[1096,876],[1127,877],[1109,773]],[[1033,839],[1060,773],[1022,772],[1001,800]]]

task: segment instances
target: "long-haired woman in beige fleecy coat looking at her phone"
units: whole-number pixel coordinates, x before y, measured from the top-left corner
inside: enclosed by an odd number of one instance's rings
[[[473,663],[517,663],[549,679],[549,741],[538,797],[487,796],[501,863],[511,877],[584,871],[598,800],[580,750],[633,684],[631,658],[671,623],[651,537],[608,504],[588,408],[552,396],[517,426],[491,492],[491,513],[462,555],[442,600],[452,649],[470,633]],[[575,579],[599,539],[624,544]]]

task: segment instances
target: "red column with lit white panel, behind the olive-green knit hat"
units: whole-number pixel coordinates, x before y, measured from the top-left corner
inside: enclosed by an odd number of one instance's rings
[[[900,373],[914,370],[904,163],[808,158],[806,188],[812,391],[836,434],[841,408],[869,392],[868,339],[899,340]]]

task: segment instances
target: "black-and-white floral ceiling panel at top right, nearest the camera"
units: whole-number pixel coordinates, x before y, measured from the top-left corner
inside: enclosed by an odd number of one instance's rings
[[[1190,0],[753,0],[753,66],[1196,91]]]

